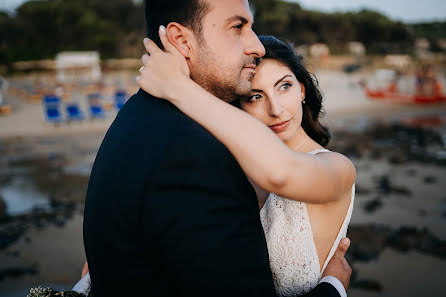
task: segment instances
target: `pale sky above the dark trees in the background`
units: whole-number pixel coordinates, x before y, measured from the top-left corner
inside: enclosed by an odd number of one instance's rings
[[[0,10],[13,11],[27,0],[0,0]],[[446,20],[445,0],[288,0],[304,8],[333,11],[357,11],[371,8],[406,23]]]

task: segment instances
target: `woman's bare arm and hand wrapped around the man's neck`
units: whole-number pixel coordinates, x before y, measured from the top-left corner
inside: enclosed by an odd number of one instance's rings
[[[145,67],[137,79],[141,88],[169,100],[209,130],[253,182],[268,192],[309,203],[334,201],[351,190],[356,173],[348,158],[289,149],[262,122],[192,81],[184,57],[166,35],[160,37],[168,52],[145,41],[150,57],[143,56]]]

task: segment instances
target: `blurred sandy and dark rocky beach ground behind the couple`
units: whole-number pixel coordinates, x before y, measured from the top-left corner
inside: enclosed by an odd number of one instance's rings
[[[329,148],[358,172],[348,295],[446,296],[446,104],[372,101],[362,76],[317,73]],[[26,296],[37,285],[70,289],[85,259],[89,173],[116,113],[54,127],[40,102],[9,95],[6,103],[13,111],[0,116],[0,296]]]

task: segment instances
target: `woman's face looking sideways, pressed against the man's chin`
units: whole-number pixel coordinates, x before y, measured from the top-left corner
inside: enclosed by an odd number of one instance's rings
[[[305,89],[283,64],[265,59],[256,68],[252,91],[240,99],[243,110],[262,121],[287,142],[301,128]]]

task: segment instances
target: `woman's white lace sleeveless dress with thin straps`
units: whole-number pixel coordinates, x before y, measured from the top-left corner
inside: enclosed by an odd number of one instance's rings
[[[317,149],[309,154],[320,152],[328,150]],[[347,233],[354,197],[355,185],[352,188],[351,202],[344,222],[321,271],[306,204],[275,194],[269,195],[260,210],[260,219],[268,245],[273,280],[279,296],[301,295],[318,284],[340,240]]]

